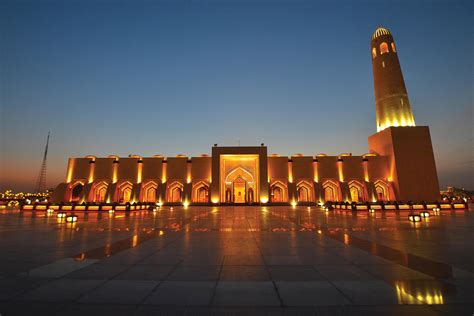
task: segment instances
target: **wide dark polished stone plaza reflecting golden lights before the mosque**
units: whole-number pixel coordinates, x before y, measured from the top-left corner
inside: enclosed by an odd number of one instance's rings
[[[473,315],[474,216],[0,212],[0,314]]]

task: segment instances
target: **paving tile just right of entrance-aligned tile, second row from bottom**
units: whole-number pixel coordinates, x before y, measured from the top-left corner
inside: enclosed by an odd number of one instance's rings
[[[285,306],[318,306],[351,304],[327,281],[276,282]]]

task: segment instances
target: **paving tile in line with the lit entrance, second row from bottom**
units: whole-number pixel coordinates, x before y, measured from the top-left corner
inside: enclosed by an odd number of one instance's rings
[[[219,281],[213,305],[220,306],[280,306],[273,282]]]

